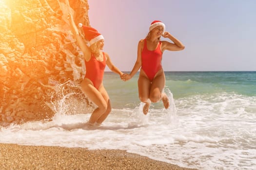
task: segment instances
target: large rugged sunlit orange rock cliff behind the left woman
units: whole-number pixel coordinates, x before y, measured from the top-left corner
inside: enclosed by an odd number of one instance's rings
[[[71,104],[86,103],[68,2],[89,25],[87,0],[0,0],[0,125],[50,119],[71,92]]]

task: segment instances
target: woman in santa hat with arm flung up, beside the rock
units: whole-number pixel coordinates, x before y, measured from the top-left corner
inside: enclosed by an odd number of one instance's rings
[[[117,67],[113,65],[107,53],[102,52],[104,46],[104,38],[92,27],[83,27],[84,37],[89,41],[89,47],[80,36],[78,28],[74,22],[72,15],[68,17],[71,30],[75,35],[81,51],[83,52],[86,74],[82,81],[81,88],[84,94],[98,107],[93,111],[88,124],[101,124],[111,111],[110,100],[105,90],[102,79],[105,66],[107,65],[113,72],[123,74]]]

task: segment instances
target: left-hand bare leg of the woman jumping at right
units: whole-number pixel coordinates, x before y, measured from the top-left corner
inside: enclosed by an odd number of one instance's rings
[[[149,110],[150,100],[149,100],[149,90],[151,83],[146,77],[144,71],[140,69],[139,78],[138,78],[138,97],[141,102],[144,102],[143,113],[146,115]]]

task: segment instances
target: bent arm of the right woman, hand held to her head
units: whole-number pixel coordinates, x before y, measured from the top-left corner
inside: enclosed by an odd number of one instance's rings
[[[162,36],[164,38],[169,38],[170,40],[172,40],[174,42],[174,43],[170,43],[168,41],[162,41],[162,47],[161,47],[162,51],[165,51],[165,50],[180,51],[185,48],[185,46],[177,38],[175,38],[172,34],[165,32]]]

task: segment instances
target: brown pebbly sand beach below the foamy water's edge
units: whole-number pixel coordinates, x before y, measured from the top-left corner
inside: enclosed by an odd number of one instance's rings
[[[121,150],[0,144],[0,170],[192,170]]]

